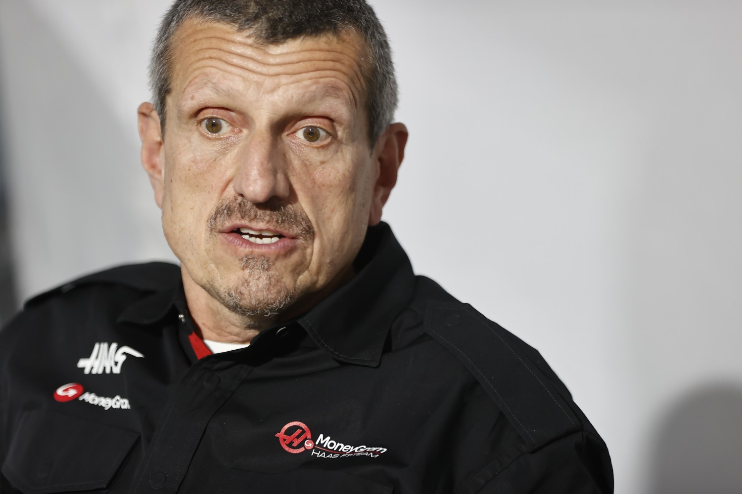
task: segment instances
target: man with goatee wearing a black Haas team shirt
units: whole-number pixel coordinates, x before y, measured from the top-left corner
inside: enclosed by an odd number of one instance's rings
[[[612,492],[539,354],[381,223],[407,130],[367,4],[177,1],[151,77],[180,270],[81,278],[0,333],[3,493]]]

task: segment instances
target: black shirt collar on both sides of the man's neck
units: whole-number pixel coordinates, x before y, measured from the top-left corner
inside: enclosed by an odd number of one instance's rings
[[[413,293],[410,260],[388,224],[370,227],[354,261],[355,276],[295,319],[329,356],[348,364],[375,367],[381,361],[392,322]],[[131,304],[120,322],[155,324],[185,311],[183,281]],[[281,324],[286,326],[286,324]]]

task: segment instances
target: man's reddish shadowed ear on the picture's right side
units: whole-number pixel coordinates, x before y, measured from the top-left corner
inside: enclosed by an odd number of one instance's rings
[[[381,210],[387,203],[392,189],[397,183],[397,172],[404,158],[404,145],[407,144],[407,127],[396,123],[387,127],[374,147],[373,159],[378,167],[369,212],[369,225],[381,221]]]

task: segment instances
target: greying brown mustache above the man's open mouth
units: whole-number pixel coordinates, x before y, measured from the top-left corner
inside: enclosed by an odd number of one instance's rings
[[[240,196],[219,201],[209,216],[209,230],[218,233],[224,225],[236,221],[279,227],[290,236],[302,240],[311,240],[315,236],[312,221],[309,221],[309,217],[300,206],[276,198],[260,204],[254,204]]]

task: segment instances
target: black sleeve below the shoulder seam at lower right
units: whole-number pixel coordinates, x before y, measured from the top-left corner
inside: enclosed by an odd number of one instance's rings
[[[467,487],[471,494],[611,494],[613,469],[603,441],[583,431],[485,469]]]

